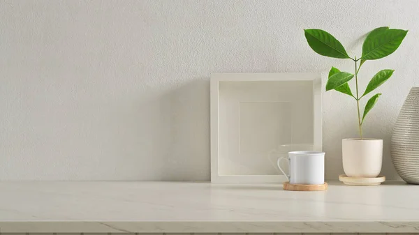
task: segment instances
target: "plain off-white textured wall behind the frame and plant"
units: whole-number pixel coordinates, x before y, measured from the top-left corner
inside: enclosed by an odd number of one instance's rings
[[[395,69],[365,121],[390,136],[419,86],[419,1],[0,1],[1,180],[210,179],[211,73],[352,72],[311,51],[303,29],[329,31],[351,56],[377,26],[409,29],[399,50],[368,61],[366,86]],[[364,100],[364,104],[367,100]],[[362,105],[363,106],[363,105]],[[326,177],[341,139],[357,137],[355,103],[323,93]]]

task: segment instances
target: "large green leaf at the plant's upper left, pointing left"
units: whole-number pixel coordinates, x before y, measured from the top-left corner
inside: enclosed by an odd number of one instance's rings
[[[343,45],[330,33],[321,29],[304,29],[307,43],[314,52],[322,56],[348,59],[349,56]]]

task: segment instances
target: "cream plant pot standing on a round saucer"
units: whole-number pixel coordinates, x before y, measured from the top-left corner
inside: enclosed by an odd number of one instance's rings
[[[342,162],[346,176],[378,176],[383,164],[383,139],[342,139]]]

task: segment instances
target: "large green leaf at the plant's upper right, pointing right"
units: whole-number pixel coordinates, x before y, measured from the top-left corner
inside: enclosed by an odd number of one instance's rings
[[[362,45],[364,60],[381,59],[395,52],[402,43],[407,30],[380,27],[371,31]]]

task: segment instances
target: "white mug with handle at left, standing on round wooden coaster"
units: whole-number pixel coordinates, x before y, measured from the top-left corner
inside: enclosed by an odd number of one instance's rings
[[[281,160],[288,161],[289,174],[281,169]],[[292,151],[288,158],[278,158],[279,170],[291,184],[323,184],[325,183],[325,153],[317,151]]]

